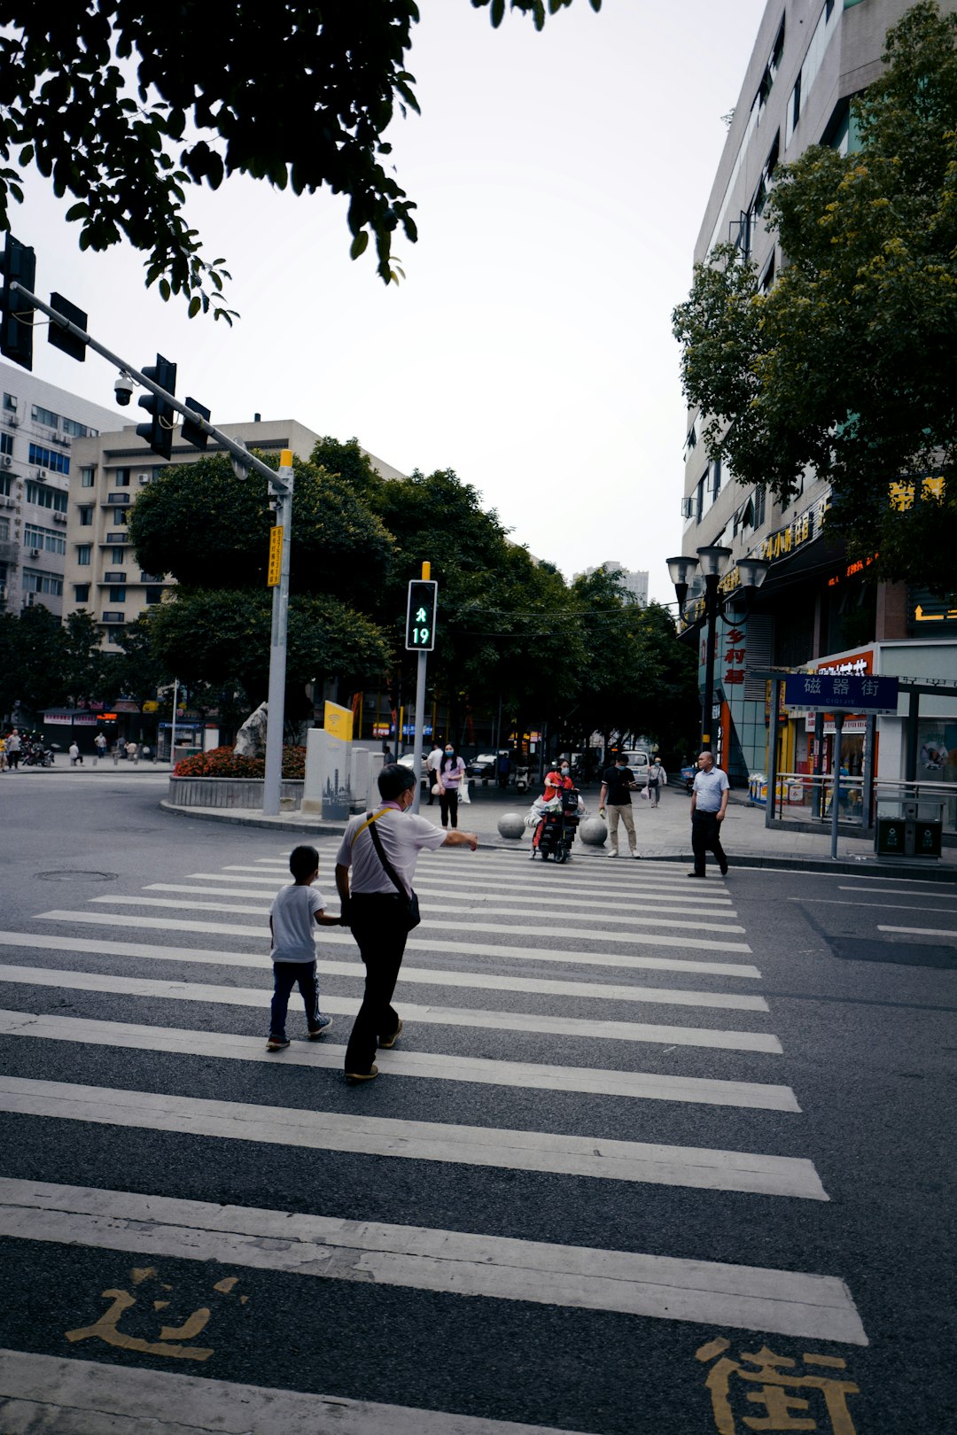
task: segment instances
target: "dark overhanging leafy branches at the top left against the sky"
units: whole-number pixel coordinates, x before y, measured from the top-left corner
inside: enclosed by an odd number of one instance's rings
[[[598,10],[601,0],[590,0]],[[505,0],[472,0],[502,23]],[[571,0],[509,0],[532,16]],[[415,202],[395,178],[383,132],[419,109],[406,69],[415,0],[7,0],[0,34],[0,228],[34,162],[80,225],[80,248],[126,240],[146,284],[182,294],[189,314],[222,297],[224,260],[207,261],[185,215],[189,185],[231,174],[294,194],[349,195],[356,258],[374,238],[389,283],[392,235],[415,241]]]

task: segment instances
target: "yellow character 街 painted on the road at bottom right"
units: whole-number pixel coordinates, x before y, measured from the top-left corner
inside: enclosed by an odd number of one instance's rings
[[[743,1431],[855,1435],[847,1398],[858,1395],[858,1386],[836,1373],[818,1373],[844,1370],[845,1360],[832,1355],[805,1353],[801,1359],[811,1373],[802,1375],[798,1373],[798,1360],[775,1355],[768,1346],[762,1346],[755,1355],[742,1350],[737,1360],[725,1358],[729,1347],[730,1340],[719,1337],[696,1352],[702,1363],[715,1362],[704,1383],[712,1395],[715,1429],[719,1435],[742,1435]]]

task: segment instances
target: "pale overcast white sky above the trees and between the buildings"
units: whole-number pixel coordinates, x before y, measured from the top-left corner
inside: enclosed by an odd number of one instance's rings
[[[416,244],[396,235],[397,287],[373,245],[349,258],[344,197],[241,177],[188,210],[227,258],[232,329],[164,304],[129,248],[80,254],[36,174],[13,232],[36,250],[40,297],[59,290],[139,369],[172,359],[178,395],[225,432],[258,412],[354,435],[403,472],[452,468],[567,578],[617,560],[669,603],[686,426],[670,313],[763,9],[574,0],[535,32],[420,0],[406,63],[422,116],[387,136],[419,225]],[[113,406],[93,353],[79,364],[37,336],[33,372]]]

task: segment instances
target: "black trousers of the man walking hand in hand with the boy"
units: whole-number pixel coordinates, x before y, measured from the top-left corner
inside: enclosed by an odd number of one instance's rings
[[[357,893],[349,900],[349,926],[366,967],[366,992],[346,1048],[346,1071],[364,1075],[379,1038],[395,1036],[399,1015],[392,993],[406,950],[406,900],[396,893]]]

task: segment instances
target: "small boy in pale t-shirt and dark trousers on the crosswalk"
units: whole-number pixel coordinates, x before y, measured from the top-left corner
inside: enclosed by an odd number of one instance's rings
[[[281,1052],[288,1046],[286,1012],[294,986],[298,986],[306,1006],[310,1042],[317,1040],[333,1025],[331,1016],[323,1016],[319,1010],[313,923],[320,927],[340,927],[341,917],[327,917],[321,893],[313,890],[313,883],[319,877],[319,852],[314,847],[293,848],[288,867],[294,878],[293,885],[283,887],[270,907],[273,1004],[267,1052]]]

